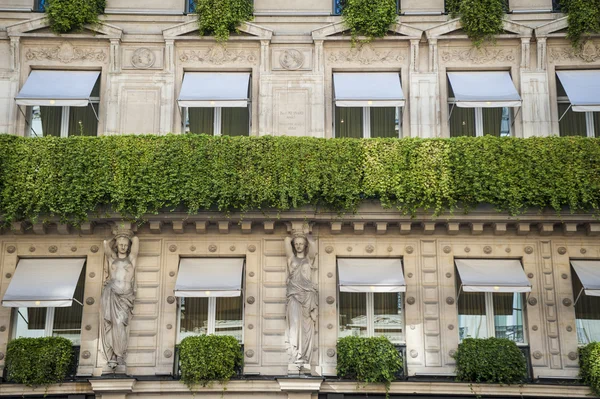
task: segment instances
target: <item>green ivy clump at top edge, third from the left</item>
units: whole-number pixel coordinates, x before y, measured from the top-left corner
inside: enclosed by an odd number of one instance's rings
[[[396,0],[347,0],[342,9],[342,18],[352,36],[352,45],[359,36],[364,42],[383,37],[390,25],[396,22]]]

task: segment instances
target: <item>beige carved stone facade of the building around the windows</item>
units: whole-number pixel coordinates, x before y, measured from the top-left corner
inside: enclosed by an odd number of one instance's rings
[[[551,13],[551,0],[511,0],[496,45],[471,46],[440,0],[402,1],[404,14],[381,40],[353,47],[329,0],[291,3],[256,0],[255,20],[226,43],[197,35],[195,16],[183,0],[107,1],[102,24],[55,36],[32,0],[0,0],[0,131],[26,135],[15,96],[36,69],[101,72],[100,135],[181,133],[177,98],[185,72],[249,72],[250,135],[334,136],[334,72],[397,72],[406,106],[402,137],[449,137],[447,71],[510,71],[523,99],[514,116],[516,137],[558,134],[556,69],[594,69],[600,41],[573,51],[566,17]],[[533,11],[519,13],[519,11]],[[0,234],[0,297],[20,258],[86,259],[85,304],[78,375],[49,394],[107,398],[191,397],[177,381],[159,381],[173,370],[177,302],[173,297],[181,257],[245,259],[243,287],[244,373],[288,375],[286,253],[284,239],[308,222],[317,240],[319,291],[313,379],[232,381],[199,389],[202,397],[300,398],[321,394],[380,394],[382,387],[326,380],[336,375],[338,257],[401,258],[406,278],[404,325],[411,377],[452,376],[459,337],[454,258],[522,261],[533,287],[526,309],[533,376],[575,379],[577,336],[569,260],[600,259],[600,224],[587,214],[526,214],[519,220],[481,209],[468,215],[417,215],[411,219],[366,204],[353,215],[297,210],[273,219],[263,213],[159,215],[132,226],[139,237],[138,290],[130,325],[127,373],[139,381],[94,379],[109,371],[102,357],[100,298],[103,240],[118,219],[92,220],[79,231],[51,222],[17,223]],[[14,323],[0,307],[0,353]],[[0,357],[0,370],[4,367]],[[159,376],[159,377],[157,377]],[[86,378],[92,378],[86,382]],[[154,380],[153,380],[154,378]],[[165,377],[166,378],[166,377]],[[2,395],[40,394],[5,384]],[[446,382],[399,382],[392,393],[585,397],[585,387],[529,385],[470,388]],[[43,394],[43,392],[42,392]]]

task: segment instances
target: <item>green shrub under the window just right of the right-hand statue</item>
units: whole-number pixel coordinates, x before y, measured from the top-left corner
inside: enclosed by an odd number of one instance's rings
[[[402,371],[402,356],[386,337],[344,337],[337,343],[337,374],[359,383],[390,384]]]

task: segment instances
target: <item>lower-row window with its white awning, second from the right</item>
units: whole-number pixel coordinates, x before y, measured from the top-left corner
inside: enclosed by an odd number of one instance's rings
[[[531,291],[518,260],[456,260],[458,334],[526,343],[524,292]]]

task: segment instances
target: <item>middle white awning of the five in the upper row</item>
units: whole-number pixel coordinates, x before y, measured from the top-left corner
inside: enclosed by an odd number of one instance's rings
[[[338,107],[403,107],[404,93],[397,73],[334,73]]]

